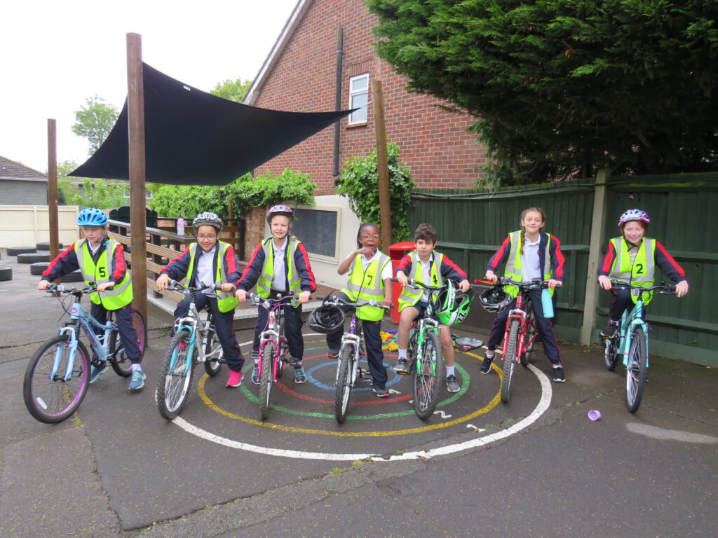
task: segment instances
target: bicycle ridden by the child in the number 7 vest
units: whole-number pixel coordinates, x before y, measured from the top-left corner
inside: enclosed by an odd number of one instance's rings
[[[351,321],[349,322],[349,331],[342,335],[342,341],[339,346],[339,354],[337,355],[337,378],[335,381],[334,392],[334,417],[337,423],[344,423],[347,418],[349,409],[349,400],[352,389],[355,387],[357,379],[363,379],[362,369],[359,362],[366,355],[364,347],[364,339],[361,336],[362,321],[357,316],[356,308],[359,306],[377,306],[388,310],[391,306],[383,306],[381,301],[371,299],[356,303],[344,301],[338,296],[318,296],[320,300],[324,300],[323,304],[334,305],[338,307],[348,306],[353,308]]]

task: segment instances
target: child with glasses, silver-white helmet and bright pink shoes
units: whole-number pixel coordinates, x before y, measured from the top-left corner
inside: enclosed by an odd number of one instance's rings
[[[237,258],[232,245],[218,241],[218,234],[222,230],[223,222],[214,213],[203,212],[192,221],[195,227],[197,242],[191,243],[185,251],[174,258],[162,274],[157,278],[157,289],[166,290],[170,280],[187,278],[187,285],[197,288],[200,284],[221,284],[218,297],[208,297],[204,293],[197,293],[195,306],[197,311],[208,308],[212,312],[215,322],[215,331],[222,344],[223,359],[229,367],[228,387],[239,387],[242,384],[242,366],[244,357],[234,335],[234,309],[237,299],[234,296],[233,282],[238,278]],[[191,297],[185,297],[177,303],[174,310],[174,319],[187,315],[190,309]],[[174,335],[174,326],[172,327]]]

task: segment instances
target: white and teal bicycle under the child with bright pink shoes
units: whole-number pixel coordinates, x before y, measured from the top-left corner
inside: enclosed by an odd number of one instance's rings
[[[177,280],[170,280],[168,290],[179,290],[190,296],[187,314],[174,321],[174,336],[170,339],[162,358],[162,366],[157,376],[155,396],[159,414],[166,420],[180,415],[185,407],[192,386],[192,373],[195,364],[205,364],[205,372],[215,377],[222,367],[224,351],[215,331],[212,311],[208,309],[204,321],[197,311],[197,293],[205,293],[208,297],[216,297],[216,293],[207,293],[220,288],[220,285],[204,285],[198,287],[184,285]],[[195,352],[196,351],[196,352]]]

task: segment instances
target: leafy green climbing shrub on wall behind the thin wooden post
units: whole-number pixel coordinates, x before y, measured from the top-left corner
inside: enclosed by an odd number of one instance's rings
[[[386,147],[389,169],[389,196],[391,207],[391,237],[403,241],[411,237],[409,208],[414,181],[406,166],[399,164],[399,148],[395,143]],[[337,194],[349,199],[349,207],[362,222],[381,222],[379,208],[379,172],[376,148],[368,157],[353,157],[344,163]]]

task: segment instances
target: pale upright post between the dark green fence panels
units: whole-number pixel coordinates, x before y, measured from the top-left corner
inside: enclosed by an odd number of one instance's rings
[[[586,295],[584,296],[584,318],[581,326],[581,344],[591,344],[591,335],[596,323],[596,306],[598,304],[598,285],[596,272],[601,255],[603,229],[606,224],[606,209],[608,207],[608,189],[606,183],[610,171],[602,169],[596,176],[596,187],[593,195],[593,215],[591,220],[591,240],[588,251],[588,268],[586,275]]]

